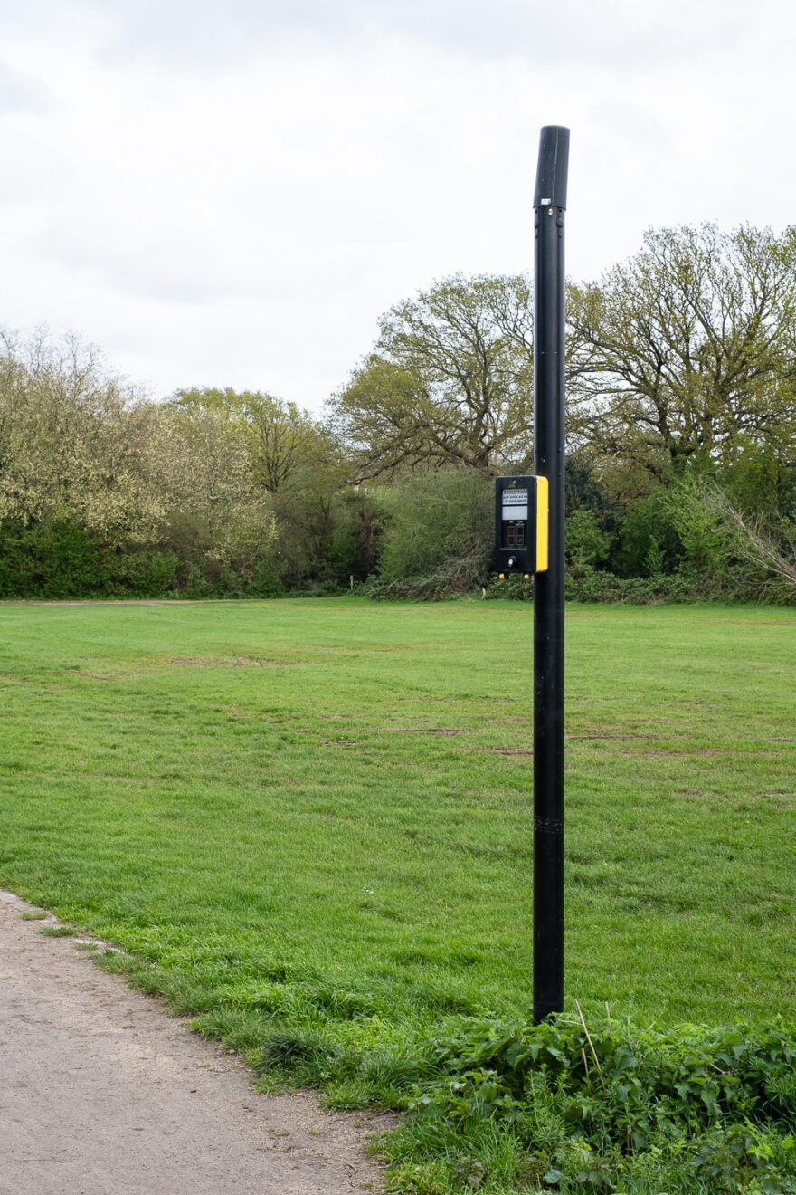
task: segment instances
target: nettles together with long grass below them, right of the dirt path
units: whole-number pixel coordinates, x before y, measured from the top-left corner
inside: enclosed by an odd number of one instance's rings
[[[580,1021],[431,1041],[400,1190],[796,1191],[796,1025]]]

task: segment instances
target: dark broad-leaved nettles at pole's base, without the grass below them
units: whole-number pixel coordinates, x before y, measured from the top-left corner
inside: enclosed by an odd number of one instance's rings
[[[439,1078],[416,1107],[459,1121],[474,1110],[513,1120],[543,1085],[563,1097],[564,1121],[592,1147],[641,1148],[679,1126],[701,1130],[728,1117],[785,1124],[796,1116],[796,1025],[783,1021],[666,1032],[611,1021],[588,1029],[560,1018],[502,1032],[483,1023],[434,1040],[430,1070]]]

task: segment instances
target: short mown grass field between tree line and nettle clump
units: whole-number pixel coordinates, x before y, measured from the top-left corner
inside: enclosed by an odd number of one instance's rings
[[[527,1010],[527,606],[0,621],[1,885],[243,1049]],[[572,607],[567,636],[569,1005],[792,1017],[796,611]]]

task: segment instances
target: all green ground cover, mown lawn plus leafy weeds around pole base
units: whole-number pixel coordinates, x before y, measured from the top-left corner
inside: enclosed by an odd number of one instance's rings
[[[796,611],[569,609],[538,1030],[526,605],[0,619],[0,884],[265,1086],[408,1110],[391,1190],[796,1190]]]

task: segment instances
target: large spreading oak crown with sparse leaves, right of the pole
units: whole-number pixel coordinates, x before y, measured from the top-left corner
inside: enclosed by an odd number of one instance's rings
[[[666,477],[686,461],[792,452],[796,229],[650,231],[568,293],[570,430]]]

